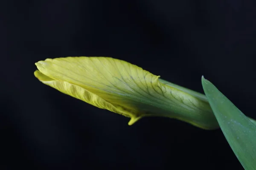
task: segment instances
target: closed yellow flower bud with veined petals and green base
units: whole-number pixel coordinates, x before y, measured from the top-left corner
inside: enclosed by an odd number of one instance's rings
[[[129,125],[144,116],[165,116],[204,129],[219,127],[201,94],[172,86],[131,63],[110,57],[64,57],[35,65],[35,77],[44,84],[98,108],[130,117]]]

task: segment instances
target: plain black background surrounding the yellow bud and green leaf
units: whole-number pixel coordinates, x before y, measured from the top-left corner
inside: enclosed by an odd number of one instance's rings
[[[61,94],[33,72],[34,63],[46,58],[105,56],[201,93],[204,75],[256,119],[256,1],[10,0],[6,5],[2,169],[243,169],[221,130],[157,117],[128,126],[128,118]]]

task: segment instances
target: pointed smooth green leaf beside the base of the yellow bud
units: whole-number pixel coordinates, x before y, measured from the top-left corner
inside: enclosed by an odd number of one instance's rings
[[[207,79],[202,85],[227,142],[245,170],[256,170],[256,125]]]

